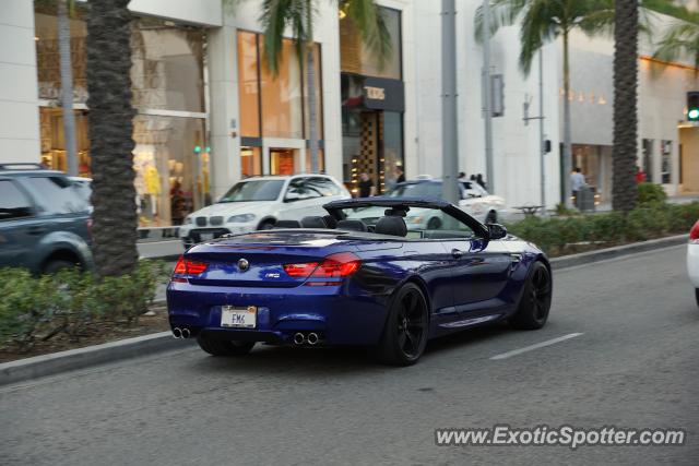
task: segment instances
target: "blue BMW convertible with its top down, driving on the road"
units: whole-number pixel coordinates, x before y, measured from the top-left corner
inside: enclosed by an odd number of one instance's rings
[[[411,365],[440,335],[499,320],[530,330],[546,323],[548,260],[502,226],[443,201],[324,207],[324,217],[189,249],[167,288],[174,335],[196,337],[215,356],[245,355],[256,342],[365,345],[386,362]],[[363,219],[364,210],[371,216]],[[435,211],[439,229],[408,230],[411,210]]]

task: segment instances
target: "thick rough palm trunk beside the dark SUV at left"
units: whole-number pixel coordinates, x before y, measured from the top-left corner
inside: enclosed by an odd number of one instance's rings
[[[102,276],[129,273],[139,258],[129,1],[91,1],[87,20],[93,243]]]

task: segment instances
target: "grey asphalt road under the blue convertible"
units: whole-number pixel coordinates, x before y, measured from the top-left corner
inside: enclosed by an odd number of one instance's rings
[[[188,348],[7,386],[0,463],[696,465],[699,309],[684,252],[557,272],[544,330],[467,331],[410,368],[352,349]],[[499,423],[683,428],[687,442],[435,445],[436,428]]]

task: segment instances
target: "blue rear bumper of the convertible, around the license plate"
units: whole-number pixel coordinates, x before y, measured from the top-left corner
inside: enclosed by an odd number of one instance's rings
[[[169,323],[192,335],[292,344],[297,332],[316,332],[328,345],[375,345],[387,310],[380,297],[342,286],[221,287],[170,283]],[[254,306],[254,330],[221,326],[222,306]]]

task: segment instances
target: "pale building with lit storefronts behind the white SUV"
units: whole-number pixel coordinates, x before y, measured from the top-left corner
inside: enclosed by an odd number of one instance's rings
[[[379,189],[414,158],[412,1],[380,4],[393,51],[384,67],[333,3],[317,13],[316,101],[320,169],[354,189],[367,171]],[[142,227],[167,227],[256,175],[310,169],[308,85],[284,40],[280,72],[262,59],[259,2],[132,0],[135,188]],[[31,0],[0,4],[0,163],[66,170],[56,11]],[[71,17],[79,175],[90,177],[84,9]],[[7,19],[7,20],[5,20]],[[407,25],[407,27],[406,27]]]

